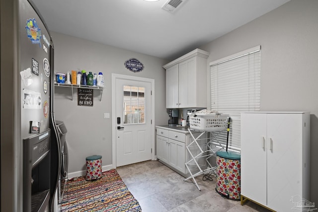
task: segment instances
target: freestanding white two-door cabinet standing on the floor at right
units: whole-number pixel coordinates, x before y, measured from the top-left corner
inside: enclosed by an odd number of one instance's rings
[[[241,113],[241,200],[277,212],[307,207],[309,148],[309,112]]]

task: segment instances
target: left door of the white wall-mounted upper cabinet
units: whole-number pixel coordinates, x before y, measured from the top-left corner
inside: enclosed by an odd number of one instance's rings
[[[179,64],[165,71],[166,108],[179,107]]]

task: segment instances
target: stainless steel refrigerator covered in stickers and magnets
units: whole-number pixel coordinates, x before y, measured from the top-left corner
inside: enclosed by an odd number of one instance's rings
[[[0,28],[0,211],[52,211],[61,170],[53,42],[31,0],[0,0]]]

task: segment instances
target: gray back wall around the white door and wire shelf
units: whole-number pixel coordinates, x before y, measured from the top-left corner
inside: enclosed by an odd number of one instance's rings
[[[68,129],[69,172],[85,170],[85,157],[102,155],[103,166],[112,164],[111,73],[134,75],[155,79],[155,125],[164,125],[168,114],[165,110],[165,71],[168,61],[52,32],[55,63],[54,71],[86,70],[103,72],[105,89],[94,91],[93,107],[78,106],[77,89],[74,100],[70,88],[55,87],[55,117],[65,122]],[[151,48],[151,47],[150,47]],[[144,64],[143,71],[134,73],[125,68],[124,62],[136,58]],[[162,115],[163,114],[163,115]]]

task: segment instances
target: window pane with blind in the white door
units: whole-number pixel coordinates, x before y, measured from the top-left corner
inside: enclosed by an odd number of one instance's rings
[[[145,123],[145,87],[124,85],[124,124]]]

